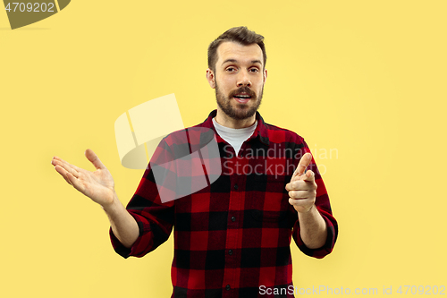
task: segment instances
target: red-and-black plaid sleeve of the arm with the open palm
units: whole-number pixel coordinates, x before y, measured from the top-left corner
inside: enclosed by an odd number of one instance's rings
[[[139,237],[132,247],[126,248],[116,238],[112,228],[109,230],[114,251],[123,258],[130,256],[140,258],[148,252],[154,251],[169,238],[173,230],[173,200],[166,201],[164,197],[165,202],[162,202],[160,198],[161,186],[157,186],[153,171],[154,165],[169,165],[169,162],[164,163],[169,160],[173,160],[173,155],[166,142],[162,140],[139,182],[137,191],[126,207],[139,226]]]

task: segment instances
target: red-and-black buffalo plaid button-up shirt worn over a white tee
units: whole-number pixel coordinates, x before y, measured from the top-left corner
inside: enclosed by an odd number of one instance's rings
[[[192,129],[215,132],[215,115],[211,112]],[[333,250],[338,234],[325,184],[312,158],[308,169],[316,174],[316,209],[327,224],[327,240],[319,249],[308,249],[300,238],[298,213],[289,204],[285,185],[299,158],[310,152],[306,142],[294,132],[265,123],[257,113],[257,129],[244,141],[239,155],[215,133],[222,173],[209,173],[213,169],[207,167],[209,177],[218,177],[213,183],[162,202],[153,160],[176,158],[175,148],[191,150],[197,145],[193,138],[181,137],[181,132],[160,142],[127,206],[138,223],[139,238],[127,249],[110,230],[114,250],[124,258],[142,257],[164,243],[174,228],[172,297],[294,297],[291,237],[300,251],[323,258]],[[183,171],[178,169],[177,175],[184,178],[184,166],[180,168]],[[190,184],[197,185],[198,175],[191,172]]]

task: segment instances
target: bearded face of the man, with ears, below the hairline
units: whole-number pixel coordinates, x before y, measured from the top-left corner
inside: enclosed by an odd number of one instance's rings
[[[257,44],[242,46],[230,41],[217,48],[215,72],[207,70],[217,105],[234,120],[255,115],[261,104],[266,74],[262,50]]]

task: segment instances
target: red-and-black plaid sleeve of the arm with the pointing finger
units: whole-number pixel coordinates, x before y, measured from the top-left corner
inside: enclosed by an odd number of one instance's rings
[[[302,155],[304,155],[307,152],[310,152],[310,149],[308,149],[308,144],[306,144],[304,140],[303,142],[305,147],[304,147],[304,153]],[[318,249],[309,249],[301,239],[299,233],[300,231],[299,220],[297,220],[295,222],[295,225],[293,226],[292,236],[295,243],[297,243],[297,246],[299,247],[300,251],[304,252],[306,255],[310,257],[321,259],[324,258],[327,254],[331,253],[331,251],[333,251],[333,246],[335,245],[335,241],[337,240],[338,236],[338,225],[337,221],[335,220],[335,217],[333,217],[331,204],[329,202],[329,196],[327,195],[327,191],[325,188],[325,183],[323,182],[320,172],[316,167],[316,163],[313,157],[312,161],[310,162],[310,165],[308,166],[308,170],[312,170],[315,173],[315,182],[317,185],[315,205],[316,209],[320,212],[323,219],[325,219],[325,223],[327,225],[327,238],[325,245],[323,245],[322,247]]]

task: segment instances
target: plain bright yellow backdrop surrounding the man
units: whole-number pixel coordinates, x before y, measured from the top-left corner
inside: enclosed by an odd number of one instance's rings
[[[170,296],[172,238],[122,259],[103,210],[51,158],[91,169],[94,149],[127,204],[143,172],[121,166],[115,119],[175,93],[184,124],[202,122],[215,108],[207,46],[240,25],[266,37],[266,122],[338,152],[316,161],[339,240],[323,260],[291,244],[295,285],[446,286],[446,11],[444,0],[73,0],[10,30],[2,8],[0,296]]]

